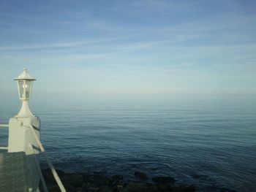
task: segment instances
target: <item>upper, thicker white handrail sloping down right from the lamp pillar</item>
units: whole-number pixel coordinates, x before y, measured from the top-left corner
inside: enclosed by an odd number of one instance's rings
[[[45,152],[45,148],[42,146],[42,143],[40,142],[40,140],[37,137],[36,132],[34,131],[34,127],[33,126],[29,126],[29,128],[31,129],[33,135],[34,135],[34,139],[36,139],[37,145],[39,146],[41,153],[45,155],[46,161],[48,163],[48,166],[50,167],[50,171],[53,173],[53,177],[55,178],[57,184],[59,185],[59,188],[61,189],[61,192],[66,192],[66,189],[64,188],[64,185],[61,183],[61,180],[59,178],[59,175],[57,174],[56,170],[53,167],[53,164],[50,161],[50,158],[48,158],[47,153]]]

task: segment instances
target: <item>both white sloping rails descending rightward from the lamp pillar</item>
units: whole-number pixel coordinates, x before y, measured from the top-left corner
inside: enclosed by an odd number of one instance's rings
[[[50,158],[48,158],[48,155],[47,153],[45,152],[45,148],[42,146],[42,143],[40,142],[40,140],[38,139],[37,137],[37,134],[36,132],[34,131],[34,127],[33,126],[29,126],[32,134],[34,135],[34,139],[36,140],[37,142],[37,145],[39,146],[39,149],[40,149],[40,152],[45,155],[45,159],[48,163],[48,166],[50,167],[50,171],[53,173],[53,177],[55,178],[57,184],[59,185],[59,188],[61,189],[61,192],[66,192],[66,189],[64,188],[64,185],[61,183],[61,180],[59,178],[59,175],[57,174],[56,170],[54,169],[54,166],[53,164],[51,163],[50,161]],[[31,146],[32,147],[32,146]],[[33,148],[33,147],[32,147]],[[33,148],[34,150],[34,148]],[[36,157],[35,157],[36,158]],[[43,188],[46,189],[45,191],[48,191],[47,190],[47,186],[45,184],[45,180],[44,178],[42,177],[42,172],[41,172],[41,169],[39,167],[39,162],[38,160],[36,159],[36,164],[37,164],[37,169],[39,169],[39,174],[40,174],[40,177],[41,177],[41,180],[42,180],[42,185],[43,185]]]

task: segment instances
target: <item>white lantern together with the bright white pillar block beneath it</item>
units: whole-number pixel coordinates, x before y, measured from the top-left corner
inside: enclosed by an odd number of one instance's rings
[[[22,106],[18,115],[9,120],[8,152],[24,151],[26,155],[34,154],[31,152],[30,145],[37,146],[37,142],[29,131],[29,127],[32,126],[37,137],[40,138],[40,119],[29,109],[29,99],[35,79],[24,68],[15,80],[18,82],[18,93]]]

